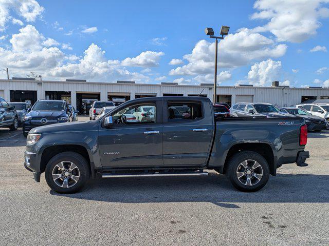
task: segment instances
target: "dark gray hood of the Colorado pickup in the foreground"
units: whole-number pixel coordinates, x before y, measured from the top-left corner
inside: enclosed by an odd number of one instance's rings
[[[30,133],[53,133],[53,132],[83,132],[98,130],[98,120],[93,121],[75,121],[66,123],[57,123],[47,126],[36,127],[30,130]]]

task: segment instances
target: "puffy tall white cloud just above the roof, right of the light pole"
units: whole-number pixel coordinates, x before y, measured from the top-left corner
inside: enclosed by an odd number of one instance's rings
[[[267,59],[260,63],[255,63],[248,72],[249,84],[270,86],[272,81],[278,80],[280,71],[281,61]]]

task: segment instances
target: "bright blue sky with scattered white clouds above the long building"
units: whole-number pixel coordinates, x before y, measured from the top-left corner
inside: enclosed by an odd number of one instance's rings
[[[0,69],[43,79],[329,87],[328,0],[0,3]],[[173,60],[174,59],[174,60]],[[5,78],[6,74],[0,74]]]

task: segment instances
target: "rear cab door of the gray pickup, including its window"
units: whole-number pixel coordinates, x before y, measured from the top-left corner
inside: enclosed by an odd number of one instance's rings
[[[163,164],[206,165],[214,132],[212,111],[201,100],[163,100]],[[181,112],[181,107],[189,109]]]

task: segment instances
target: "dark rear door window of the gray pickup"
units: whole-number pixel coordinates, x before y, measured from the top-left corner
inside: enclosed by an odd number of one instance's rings
[[[196,120],[203,117],[200,103],[168,102],[168,122]]]

